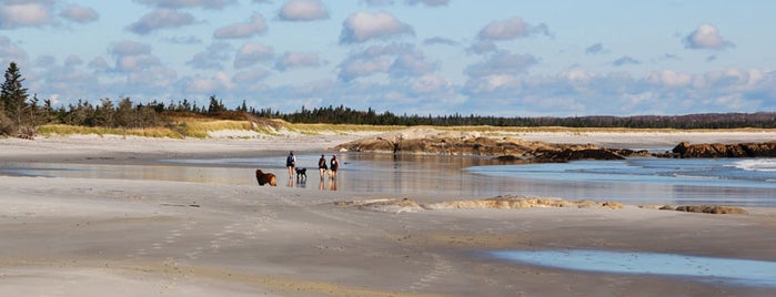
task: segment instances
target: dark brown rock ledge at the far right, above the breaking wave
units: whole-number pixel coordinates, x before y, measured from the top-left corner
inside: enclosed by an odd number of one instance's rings
[[[679,143],[672,151],[676,157],[757,157],[776,156],[776,142],[763,143]]]

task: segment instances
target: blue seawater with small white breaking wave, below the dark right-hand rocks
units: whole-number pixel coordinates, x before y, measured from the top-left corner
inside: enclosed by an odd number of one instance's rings
[[[776,158],[629,158],[465,171],[511,178],[522,192],[635,203],[776,206]]]

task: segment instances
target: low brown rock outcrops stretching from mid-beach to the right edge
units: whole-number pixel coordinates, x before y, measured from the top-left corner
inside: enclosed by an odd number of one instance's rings
[[[608,148],[595,144],[557,144],[517,137],[488,137],[476,133],[429,132],[370,136],[334,147],[346,152],[392,154],[493,156],[505,162],[548,163],[576,160],[623,160],[626,157],[756,157],[776,156],[776,142],[691,144],[682,142],[672,151]]]

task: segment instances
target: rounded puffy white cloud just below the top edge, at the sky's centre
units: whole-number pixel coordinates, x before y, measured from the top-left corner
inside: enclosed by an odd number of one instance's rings
[[[340,43],[360,43],[372,39],[390,39],[414,35],[410,24],[403,23],[387,12],[356,12],[342,23]]]

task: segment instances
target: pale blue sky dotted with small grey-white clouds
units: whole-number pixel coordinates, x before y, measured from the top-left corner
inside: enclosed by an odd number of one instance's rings
[[[0,0],[57,105],[583,116],[776,111],[776,1]]]

